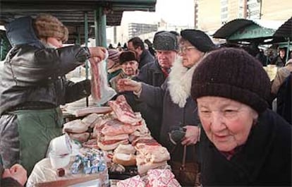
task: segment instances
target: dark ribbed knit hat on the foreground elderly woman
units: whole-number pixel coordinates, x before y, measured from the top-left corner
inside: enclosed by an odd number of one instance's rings
[[[243,49],[210,52],[195,68],[191,95],[226,97],[247,104],[259,114],[267,109],[270,81],[257,59]]]

